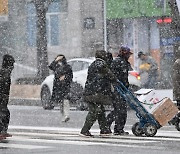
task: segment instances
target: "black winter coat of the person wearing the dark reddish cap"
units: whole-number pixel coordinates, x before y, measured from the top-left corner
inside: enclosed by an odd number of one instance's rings
[[[111,63],[111,71],[124,86],[129,87],[128,71],[132,69],[131,64],[122,56],[118,56]]]

